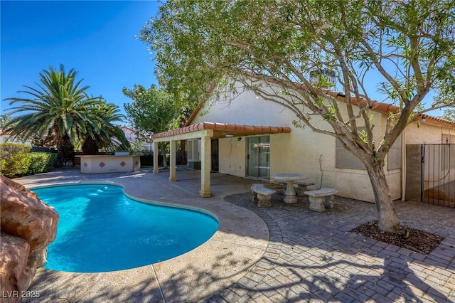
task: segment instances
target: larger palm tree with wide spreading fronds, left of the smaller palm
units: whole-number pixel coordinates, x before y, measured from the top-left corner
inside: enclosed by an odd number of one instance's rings
[[[87,89],[82,86],[82,80],[76,81],[77,72],[60,65],[59,70],[50,67],[40,73],[38,87],[24,85],[28,90],[22,90],[31,98],[11,97],[5,100],[10,105],[20,102],[21,105],[11,107],[9,114],[12,117],[7,127],[11,133],[23,139],[31,137],[50,137],[50,144],[58,149],[58,165],[74,159],[74,142],[85,136],[88,131],[95,129],[103,133],[104,124],[100,117],[104,113],[97,113],[95,108],[105,104],[101,97],[89,97]],[[108,122],[109,128],[109,122]],[[73,162],[74,163],[74,162]]]

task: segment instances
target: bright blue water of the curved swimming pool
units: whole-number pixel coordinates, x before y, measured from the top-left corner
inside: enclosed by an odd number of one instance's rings
[[[218,221],[198,211],[128,198],[105,184],[32,189],[60,215],[45,268],[65,272],[125,270],[198,247]]]

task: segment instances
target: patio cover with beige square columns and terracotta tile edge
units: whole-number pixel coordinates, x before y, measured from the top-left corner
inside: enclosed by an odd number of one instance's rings
[[[212,191],[210,191],[211,139],[244,137],[257,134],[279,134],[286,132],[291,132],[291,129],[289,127],[200,122],[198,124],[191,124],[168,132],[154,134],[152,138],[155,151],[158,151],[159,142],[170,142],[171,163],[169,169],[169,181],[171,182],[177,181],[176,142],[188,139],[201,139],[199,196],[208,198],[212,196]],[[158,152],[154,152],[154,174],[158,174]]]

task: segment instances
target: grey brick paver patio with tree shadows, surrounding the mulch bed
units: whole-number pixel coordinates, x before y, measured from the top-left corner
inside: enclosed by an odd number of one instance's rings
[[[336,207],[325,213],[308,210],[308,199],[299,203],[282,203],[282,197],[272,196],[272,208],[257,208],[250,194],[226,197],[227,201],[255,211],[269,225],[271,243],[262,260],[237,285],[225,289],[218,297],[238,300],[275,297],[278,301],[304,299],[355,299],[378,302],[407,299],[412,302],[429,300],[446,302],[454,299],[454,280],[448,269],[454,263],[454,238],[448,237],[429,255],[387,245],[377,240],[351,233],[355,225],[372,220],[374,204],[336,197]],[[437,216],[439,227],[432,232],[444,235],[453,232],[454,212],[441,212],[420,203],[400,203],[399,216],[409,225],[422,226],[422,216]],[[432,213],[434,211],[434,213]],[[427,220],[428,222],[428,220]],[[230,299],[228,299],[230,298]],[[234,301],[237,301],[235,299]],[[216,300],[215,300],[216,301]]]

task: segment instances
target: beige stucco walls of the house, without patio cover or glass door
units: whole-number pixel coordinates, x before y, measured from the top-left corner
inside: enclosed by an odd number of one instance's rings
[[[223,122],[232,124],[269,125],[290,127],[289,134],[271,134],[270,174],[287,172],[308,174],[316,182],[316,187],[338,188],[338,195],[362,201],[374,201],[373,191],[368,174],[363,169],[337,169],[335,167],[336,139],[326,134],[312,132],[308,127],[296,128],[292,121],[294,114],[281,105],[257,97],[252,92],[238,90],[239,95],[210,100],[200,110],[192,122]],[[229,100],[229,102],[228,102]],[[343,108],[343,107],[341,107]],[[320,128],[331,129],[331,126],[314,116],[314,124]],[[380,142],[381,132],[385,129],[385,116],[375,113],[376,142]],[[242,137],[219,140],[219,170],[223,174],[246,176],[247,140]],[[321,159],[321,167],[319,161]],[[387,157],[386,157],[387,161]],[[321,171],[322,168],[322,171]],[[392,198],[401,197],[400,169],[387,171]]]

